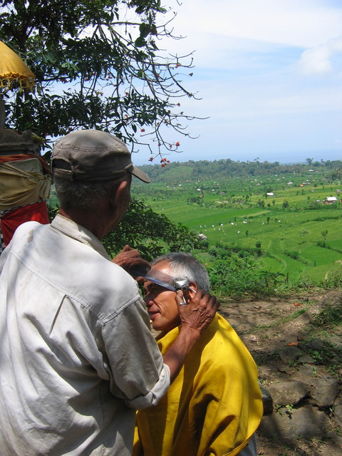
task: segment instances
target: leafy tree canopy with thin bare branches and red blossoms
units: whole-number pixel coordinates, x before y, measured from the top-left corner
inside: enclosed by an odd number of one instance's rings
[[[97,128],[133,150],[178,150],[193,118],[179,101],[194,97],[182,81],[192,76],[192,56],[158,48],[161,38],[177,38],[160,0],[2,0],[0,6],[0,40],[36,75],[33,93],[2,89],[7,128],[41,138]]]

